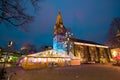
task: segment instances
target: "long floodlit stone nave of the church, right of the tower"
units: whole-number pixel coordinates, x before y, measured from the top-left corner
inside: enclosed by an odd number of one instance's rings
[[[80,39],[72,39],[71,41],[73,41],[71,52],[80,58],[81,63],[108,63],[112,59],[108,46]]]

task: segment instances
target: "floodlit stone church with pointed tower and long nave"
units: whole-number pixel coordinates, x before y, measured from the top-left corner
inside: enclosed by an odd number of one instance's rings
[[[67,51],[68,54],[72,53],[75,57],[79,58],[82,63],[108,63],[111,61],[112,56],[108,46],[66,36],[67,33],[67,29],[62,21],[62,16],[60,12],[58,12],[53,32],[53,49]],[[72,43],[71,48],[70,43]]]

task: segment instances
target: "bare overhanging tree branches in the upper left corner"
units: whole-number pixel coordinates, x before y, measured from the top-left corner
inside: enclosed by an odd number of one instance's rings
[[[13,26],[20,27],[33,20],[33,16],[25,10],[29,3],[36,8],[40,0],[0,0],[0,23],[10,23]],[[29,5],[28,5],[29,6]]]

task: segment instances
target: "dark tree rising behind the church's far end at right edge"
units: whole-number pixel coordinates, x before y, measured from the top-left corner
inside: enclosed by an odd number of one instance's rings
[[[116,17],[111,22],[111,27],[108,32],[106,45],[108,45],[111,48],[120,46],[120,42],[118,40],[118,37],[120,36],[117,36],[119,34],[119,30],[120,30],[120,18]]]

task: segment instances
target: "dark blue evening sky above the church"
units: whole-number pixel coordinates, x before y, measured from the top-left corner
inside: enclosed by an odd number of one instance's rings
[[[37,47],[52,45],[58,11],[65,27],[71,28],[78,38],[104,44],[111,21],[120,17],[120,0],[44,0],[40,5],[34,13],[35,20],[27,26],[29,32],[0,24],[0,46],[10,40],[18,46],[26,42]],[[32,13],[30,8],[29,12]]]

